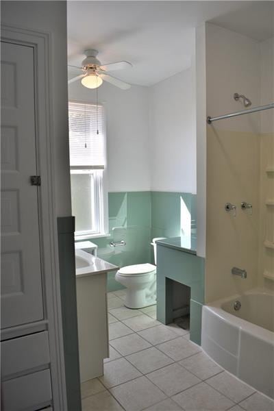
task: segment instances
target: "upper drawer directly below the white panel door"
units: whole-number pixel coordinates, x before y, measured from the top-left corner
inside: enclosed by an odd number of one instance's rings
[[[49,361],[47,331],[1,342],[1,373],[3,378],[49,364]]]

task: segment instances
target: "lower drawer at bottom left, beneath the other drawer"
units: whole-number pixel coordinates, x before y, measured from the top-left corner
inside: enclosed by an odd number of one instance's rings
[[[9,379],[2,384],[3,411],[36,409],[51,401],[49,369]]]

